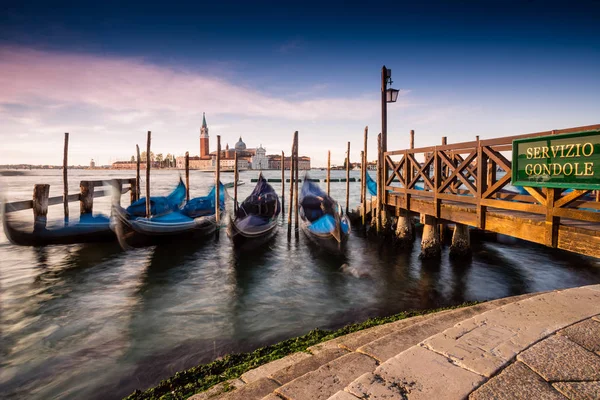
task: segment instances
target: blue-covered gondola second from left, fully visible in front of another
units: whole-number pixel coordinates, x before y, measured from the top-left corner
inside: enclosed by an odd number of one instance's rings
[[[219,184],[219,209],[225,213],[225,187]],[[215,187],[208,195],[189,200],[184,207],[151,218],[136,216],[113,205],[115,232],[123,249],[205,238],[217,229]]]

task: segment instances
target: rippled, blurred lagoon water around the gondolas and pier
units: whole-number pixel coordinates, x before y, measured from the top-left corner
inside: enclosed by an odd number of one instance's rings
[[[132,176],[69,174],[70,193],[82,179]],[[344,174],[332,171],[333,178]],[[153,172],[153,193],[168,193],[178,175]],[[265,175],[280,177],[278,171]],[[256,176],[241,173],[241,198]],[[311,176],[322,179],[325,172]],[[204,194],[212,180],[193,171],[191,195]],[[62,194],[60,171],[0,177],[9,200],[29,199],[33,184],[42,182],[51,184],[51,196]],[[281,184],[273,186],[281,192]],[[343,203],[345,183],[332,182],[331,189]],[[351,191],[355,207],[357,183]],[[108,202],[96,199],[94,210],[107,212]],[[72,220],[78,207],[71,203]],[[32,219],[31,210],[15,216]],[[49,218],[60,223],[62,206],[50,207]],[[423,262],[418,244],[399,251],[355,234],[347,257],[333,258],[302,235],[288,242],[285,231],[282,222],[274,241],[251,254],[236,254],[224,230],[204,244],[128,253],[116,243],[16,247],[0,233],[0,396],[117,399],[181,369],[316,327],[600,282],[597,260],[509,238],[474,240],[472,261],[453,263],[447,247],[441,262]]]

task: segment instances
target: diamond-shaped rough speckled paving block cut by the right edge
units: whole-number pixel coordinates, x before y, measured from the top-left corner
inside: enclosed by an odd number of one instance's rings
[[[550,382],[600,380],[600,357],[564,336],[551,336],[517,359]]]

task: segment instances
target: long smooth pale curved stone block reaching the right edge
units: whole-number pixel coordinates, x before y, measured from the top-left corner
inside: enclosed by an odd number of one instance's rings
[[[490,377],[533,343],[599,312],[600,291],[550,292],[462,321],[423,345]]]

